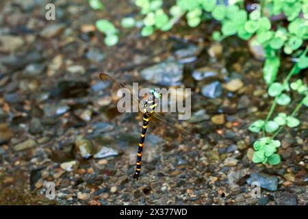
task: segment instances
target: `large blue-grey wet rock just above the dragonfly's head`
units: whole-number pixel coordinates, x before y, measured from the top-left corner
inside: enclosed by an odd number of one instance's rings
[[[163,86],[176,86],[183,79],[183,64],[174,60],[155,64],[141,70],[140,75],[151,83]]]

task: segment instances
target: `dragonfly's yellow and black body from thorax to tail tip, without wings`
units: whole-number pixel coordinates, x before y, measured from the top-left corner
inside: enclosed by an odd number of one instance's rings
[[[138,145],[136,171],[133,175],[133,178],[137,180],[138,180],[138,177],[140,176],[140,171],[141,171],[141,159],[142,159],[142,151],[143,151],[143,146],[144,146],[146,129],[148,129],[148,126],[151,120],[151,114],[155,111],[156,105],[157,103],[155,103],[155,96],[153,96],[153,101],[147,100],[146,103],[144,104],[144,114],[142,116],[143,123],[142,123],[142,131],[141,131],[141,136],[140,136],[139,145]]]

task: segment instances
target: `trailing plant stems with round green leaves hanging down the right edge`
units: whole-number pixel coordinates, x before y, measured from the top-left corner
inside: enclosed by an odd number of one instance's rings
[[[294,73],[298,73],[300,69],[307,68],[307,62],[305,62],[305,64],[303,63],[303,60],[305,60],[303,57],[307,58],[307,51],[308,49],[300,55],[298,62],[294,65],[283,83],[275,82],[268,88],[268,95],[274,97],[274,101],[270,107],[270,112],[268,113],[266,120],[257,120],[248,127],[250,131],[255,133],[259,133],[259,131],[262,131],[263,133],[263,138],[260,138],[255,142],[255,144],[253,144],[253,148],[255,149],[253,162],[255,163],[272,165],[279,164],[280,157],[279,154],[275,152],[281,145],[281,142],[279,140],[274,140],[274,138],[285,126],[295,128],[300,125],[300,120],[296,118],[296,114],[303,105],[308,107],[308,87],[300,79],[290,84],[289,80]],[[303,95],[303,98],[289,116],[285,113],[279,113],[273,118],[273,120],[270,120],[276,105],[288,105],[291,103],[291,97],[287,92],[297,92],[298,94]],[[266,137],[266,133],[272,134],[272,136]]]

